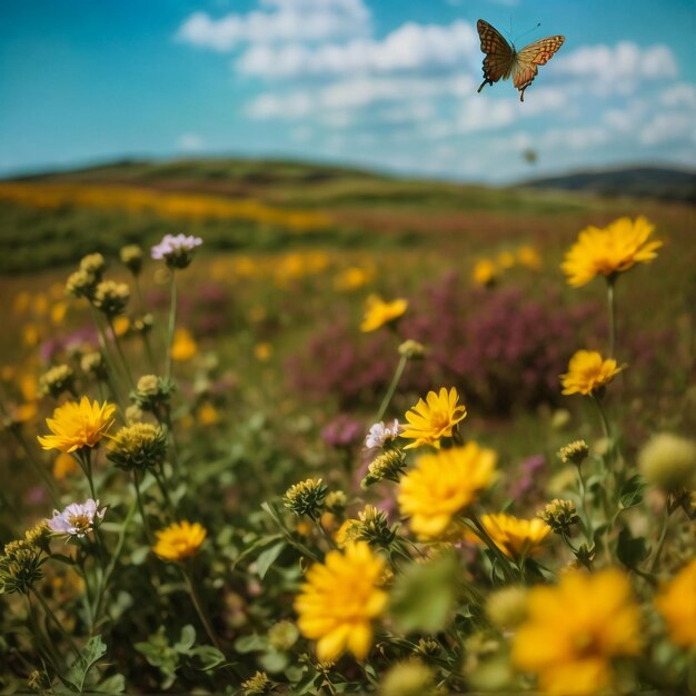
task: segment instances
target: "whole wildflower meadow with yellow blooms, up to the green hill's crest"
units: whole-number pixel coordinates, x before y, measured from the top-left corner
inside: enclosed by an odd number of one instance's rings
[[[696,693],[695,226],[281,162],[0,182],[2,693]]]

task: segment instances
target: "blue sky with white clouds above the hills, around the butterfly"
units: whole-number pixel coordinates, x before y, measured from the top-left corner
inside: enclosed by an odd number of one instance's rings
[[[510,82],[476,93],[479,17],[518,48],[566,37],[524,103]],[[208,155],[484,181],[696,168],[695,36],[694,0],[2,0],[0,173]]]

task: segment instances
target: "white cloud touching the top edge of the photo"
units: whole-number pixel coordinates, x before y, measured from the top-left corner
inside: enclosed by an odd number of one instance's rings
[[[193,12],[176,38],[216,51],[243,43],[327,41],[367,36],[370,12],[362,0],[261,0],[264,10],[212,19]]]

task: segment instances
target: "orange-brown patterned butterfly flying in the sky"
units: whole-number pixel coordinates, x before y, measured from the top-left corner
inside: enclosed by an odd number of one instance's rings
[[[517,51],[488,22],[479,19],[476,23],[481,40],[484,58],[484,81],[478,88],[480,92],[486,84],[493,84],[500,78],[507,80],[513,77],[513,84],[519,90],[519,100],[525,100],[525,90],[531,84],[539,71],[538,66],[545,66],[554,53],[563,46],[565,37],[547,37],[539,39]]]

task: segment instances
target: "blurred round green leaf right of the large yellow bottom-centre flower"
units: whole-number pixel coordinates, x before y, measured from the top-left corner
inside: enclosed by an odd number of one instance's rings
[[[408,566],[391,591],[390,613],[398,627],[404,633],[445,628],[454,612],[459,576],[451,554]]]

